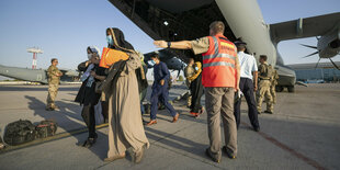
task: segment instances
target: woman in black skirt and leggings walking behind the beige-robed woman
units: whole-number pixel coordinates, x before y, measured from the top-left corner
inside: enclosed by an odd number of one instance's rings
[[[98,104],[101,94],[95,93],[95,82],[105,79],[105,69],[99,67],[100,50],[98,47],[89,46],[87,52],[89,60],[78,65],[78,70],[83,71],[83,75],[80,78],[82,84],[75,101],[83,105],[81,116],[88,126],[89,137],[82,146],[89,148],[98,138],[95,133],[94,105]]]

